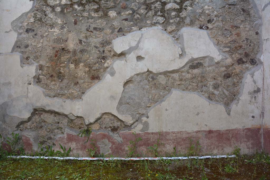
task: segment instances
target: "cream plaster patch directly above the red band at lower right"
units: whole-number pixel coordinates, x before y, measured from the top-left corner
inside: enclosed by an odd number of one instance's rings
[[[244,82],[242,96],[228,115],[225,108],[211,102],[196,93],[172,89],[164,97],[163,102],[157,103],[149,110],[146,120],[149,123],[148,132],[158,131],[197,131],[225,130],[245,127],[259,127],[262,107],[262,92],[251,96],[258,87],[262,88],[262,68],[248,74]],[[256,84],[254,83],[256,82]],[[252,118],[254,116],[254,118]],[[139,123],[133,131],[139,132],[143,123]]]

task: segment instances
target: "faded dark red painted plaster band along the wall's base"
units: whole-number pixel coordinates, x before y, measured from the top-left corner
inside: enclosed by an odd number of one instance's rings
[[[268,131],[267,131],[268,132]],[[107,139],[110,143],[110,154],[114,157],[126,157],[127,147],[129,142],[135,140],[132,132],[120,132],[120,137],[123,143],[117,142],[107,133],[92,133],[89,141],[87,137],[79,137],[74,134],[65,134],[58,137],[55,141],[55,150],[60,150],[59,143],[65,145],[68,149],[72,148],[71,155],[80,157],[89,157],[86,150],[93,148],[90,142],[95,144],[97,151],[100,152],[97,142]],[[269,140],[270,132],[267,136]],[[138,142],[136,153],[140,156],[153,156],[149,152],[148,147],[157,144],[159,133],[140,133],[136,134],[142,140]],[[242,153],[252,153],[256,150],[261,151],[261,128],[245,128],[231,130],[209,130],[209,131],[181,131],[181,132],[161,132],[158,151],[160,155],[168,155],[173,152],[173,147],[176,147],[177,152],[186,153],[190,146],[190,139],[193,139],[193,144],[198,140],[201,145],[201,154],[227,154],[231,152],[235,146],[241,148]]]

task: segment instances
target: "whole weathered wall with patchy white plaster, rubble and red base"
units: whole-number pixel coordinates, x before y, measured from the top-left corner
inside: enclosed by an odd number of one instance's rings
[[[0,133],[27,152],[270,151],[269,2],[23,1],[0,1]]]

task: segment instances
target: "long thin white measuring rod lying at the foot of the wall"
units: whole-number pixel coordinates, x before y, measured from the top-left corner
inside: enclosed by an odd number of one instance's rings
[[[159,158],[75,158],[75,157],[46,157],[46,156],[8,156],[8,158],[30,159],[76,159],[76,160],[160,160],[160,159],[208,159],[208,158],[235,158],[235,155],[220,156],[189,156],[189,157],[159,157]]]

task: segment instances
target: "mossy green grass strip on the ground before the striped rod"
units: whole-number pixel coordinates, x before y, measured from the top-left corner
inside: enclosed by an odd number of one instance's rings
[[[55,159],[9,159],[0,161],[0,179],[58,180],[180,180],[180,179],[270,179],[267,154],[237,158],[79,161]],[[257,159],[253,161],[253,159]]]

